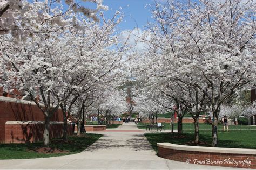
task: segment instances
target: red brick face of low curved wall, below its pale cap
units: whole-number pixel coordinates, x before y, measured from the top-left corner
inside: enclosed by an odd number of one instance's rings
[[[212,153],[199,151],[172,150],[158,146],[159,157],[171,159],[189,164],[213,165],[225,167],[251,168],[256,169],[256,156],[250,154]],[[234,160],[234,161],[233,161]],[[244,164],[235,161],[251,161]],[[219,162],[217,162],[219,161]]]

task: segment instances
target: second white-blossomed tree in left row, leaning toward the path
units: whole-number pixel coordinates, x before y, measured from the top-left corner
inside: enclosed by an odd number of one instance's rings
[[[64,139],[67,119],[76,100],[81,95],[88,96],[92,91],[96,93],[99,85],[105,88],[106,84],[120,76],[117,69],[124,62],[121,59],[125,48],[118,52],[107,50],[113,47],[113,42],[120,45],[117,36],[113,36],[114,28],[120,22],[119,13],[117,12],[110,20],[102,17],[105,21],[103,26],[83,20],[79,24],[83,25],[83,29],[72,29],[70,39],[68,36],[65,37],[70,42],[69,48],[72,49],[72,55],[67,59],[69,62],[72,61],[72,69],[63,72],[61,76],[65,77],[63,81],[69,86],[63,89],[62,93],[59,93],[59,89],[53,93],[58,101],[63,100],[60,106],[64,116]]]

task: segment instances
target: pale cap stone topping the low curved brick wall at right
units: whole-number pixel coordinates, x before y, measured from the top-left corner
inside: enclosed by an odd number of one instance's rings
[[[171,144],[171,143],[157,143],[157,146],[162,147],[162,148],[171,149],[171,150],[256,155],[255,149],[245,149],[245,148],[188,146],[188,145],[176,145],[176,144]]]

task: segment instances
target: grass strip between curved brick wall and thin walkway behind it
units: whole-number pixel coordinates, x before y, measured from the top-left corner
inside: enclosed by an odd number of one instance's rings
[[[256,149],[255,134],[255,132],[218,133],[217,147]],[[193,133],[183,133],[181,137],[178,137],[177,133],[146,133],[145,136],[155,151],[157,151],[157,143],[169,142],[178,145],[188,145],[188,143],[194,140]],[[211,133],[200,133],[199,140],[203,142],[200,146],[211,146]]]

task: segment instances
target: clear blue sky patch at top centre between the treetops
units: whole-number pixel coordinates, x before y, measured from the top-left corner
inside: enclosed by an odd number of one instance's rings
[[[166,0],[157,0],[164,2]],[[77,1],[78,2],[78,1]],[[106,18],[111,18],[116,10],[122,8],[124,12],[123,22],[119,24],[120,30],[133,30],[138,27],[143,30],[147,21],[152,21],[151,12],[146,9],[146,4],[153,4],[154,0],[103,0],[103,5],[109,6],[108,11],[104,11]],[[85,7],[95,9],[96,5],[92,3],[82,3]],[[127,6],[128,5],[128,6]]]

